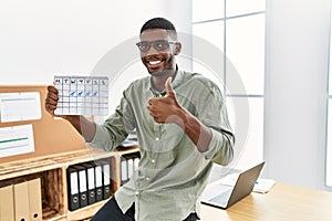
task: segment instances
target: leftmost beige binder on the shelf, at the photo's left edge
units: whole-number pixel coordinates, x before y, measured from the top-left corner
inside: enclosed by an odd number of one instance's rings
[[[1,186],[0,196],[0,221],[14,221],[13,186]]]

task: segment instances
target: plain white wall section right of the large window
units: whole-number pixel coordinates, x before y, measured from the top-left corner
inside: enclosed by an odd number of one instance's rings
[[[266,175],[324,189],[329,0],[267,0]]]

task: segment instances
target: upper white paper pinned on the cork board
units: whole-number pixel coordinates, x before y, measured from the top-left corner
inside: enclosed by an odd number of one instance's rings
[[[40,119],[40,93],[0,93],[0,113],[3,123]]]

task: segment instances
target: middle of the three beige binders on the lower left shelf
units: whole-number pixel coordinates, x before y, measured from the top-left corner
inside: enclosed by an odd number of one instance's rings
[[[14,183],[15,220],[29,220],[29,186],[27,181]]]

